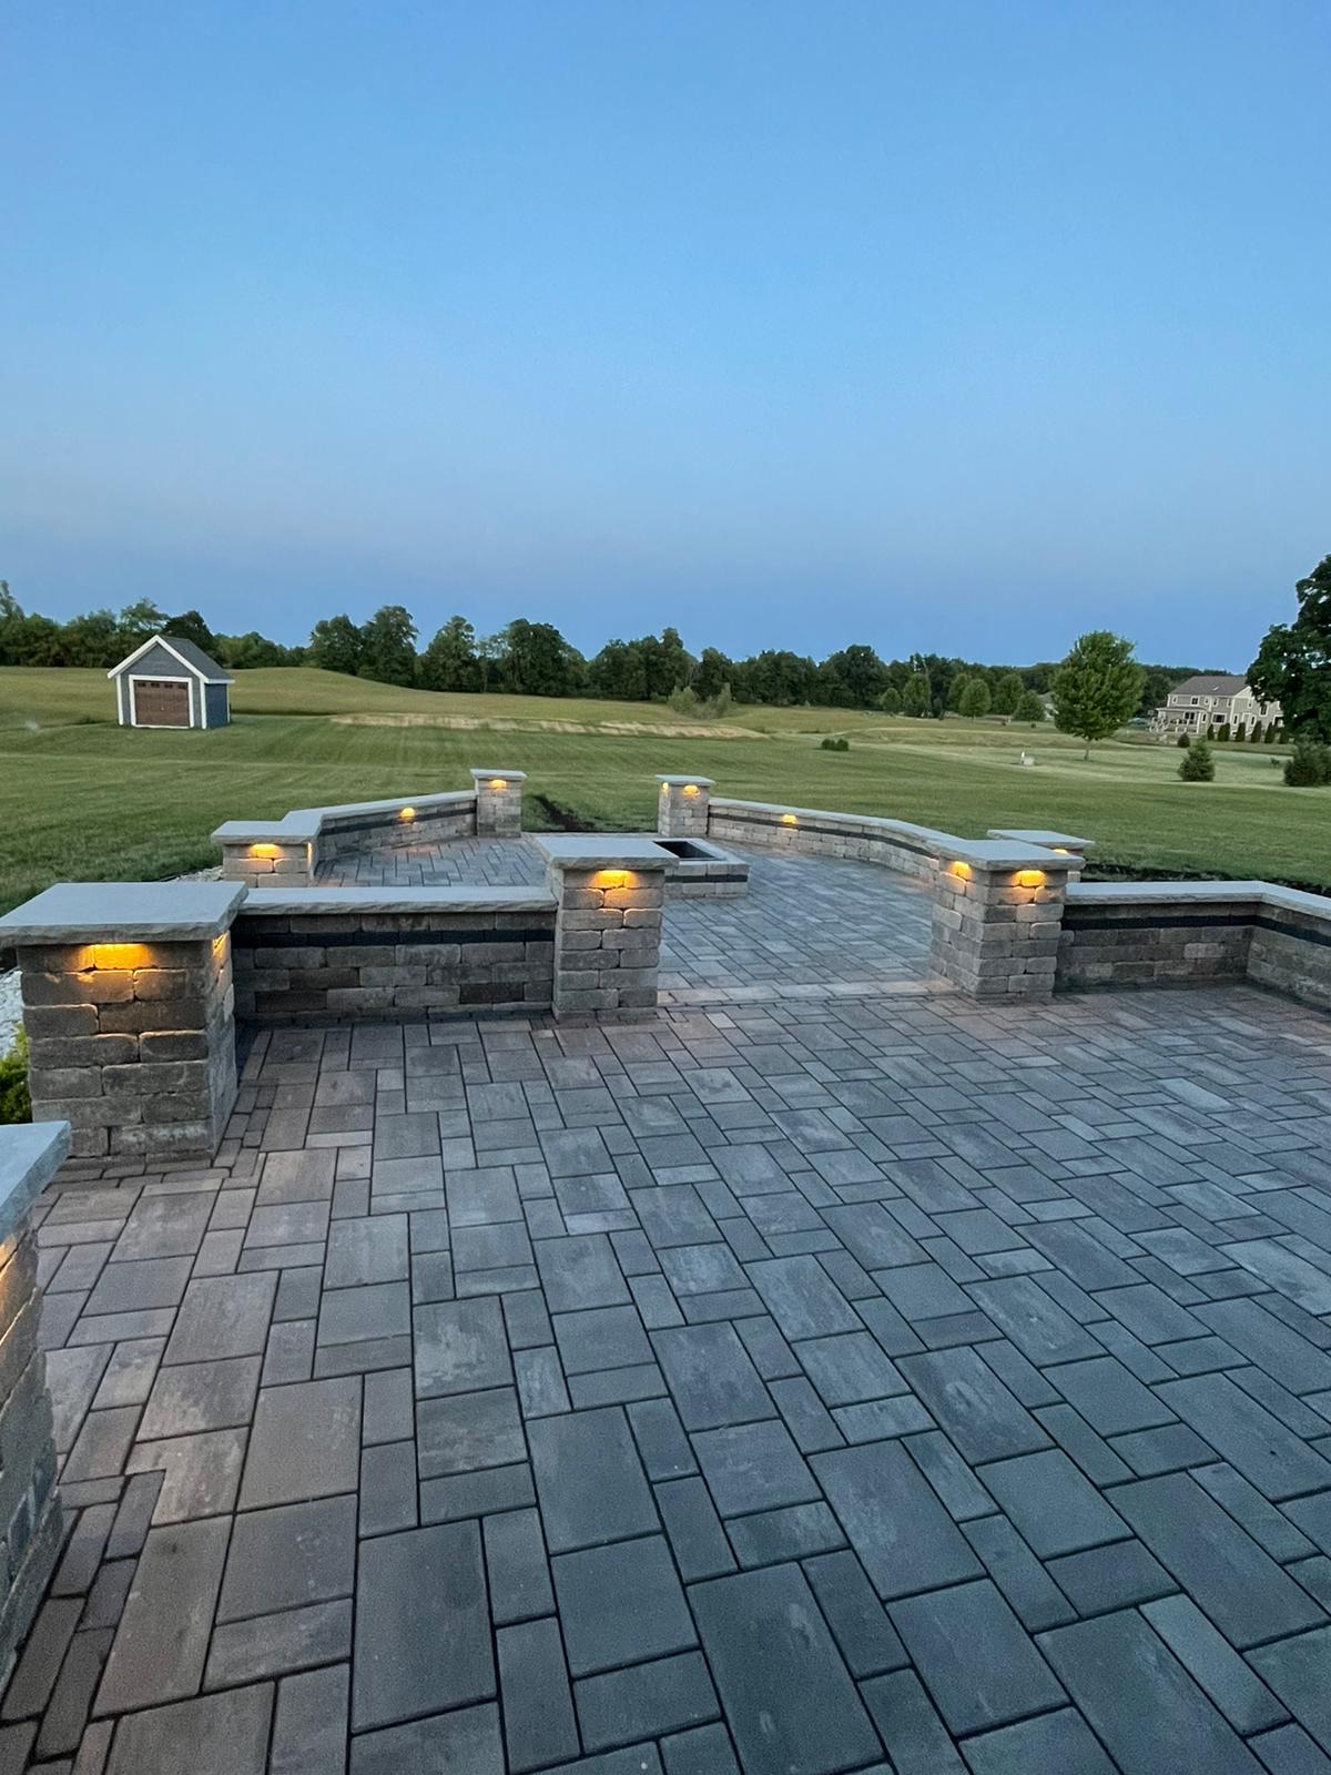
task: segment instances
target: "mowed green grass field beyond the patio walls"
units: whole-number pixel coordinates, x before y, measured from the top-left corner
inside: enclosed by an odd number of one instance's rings
[[[655,774],[690,770],[719,793],[964,836],[1052,825],[1141,873],[1331,888],[1331,793],[1287,790],[1269,746],[1217,747],[1216,783],[1187,785],[1175,747],[1145,737],[1086,763],[1052,728],[996,721],[736,708],[708,726],[644,703],[440,696],[312,669],[241,673],[232,708],[211,733],[133,731],[112,724],[103,673],[0,667],[0,907],[60,879],[204,868],[222,820],[463,788],[472,765],[527,770],[532,797],[602,827],[651,825]],[[852,749],[820,751],[825,733]],[[527,824],[548,822],[531,806]]]

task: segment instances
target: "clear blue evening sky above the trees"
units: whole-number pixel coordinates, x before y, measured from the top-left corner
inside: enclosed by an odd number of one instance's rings
[[[14,0],[0,577],[1242,667],[1331,550],[1327,51],[1324,0]]]

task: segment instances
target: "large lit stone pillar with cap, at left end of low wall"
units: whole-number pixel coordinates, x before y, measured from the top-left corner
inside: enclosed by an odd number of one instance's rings
[[[62,882],[0,919],[18,950],[32,1120],[78,1157],[211,1161],[236,1100],[231,882]]]

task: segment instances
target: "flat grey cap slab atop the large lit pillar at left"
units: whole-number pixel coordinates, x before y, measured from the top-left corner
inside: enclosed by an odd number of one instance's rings
[[[240,882],[57,882],[0,918],[0,946],[193,943],[220,937],[243,898]]]

